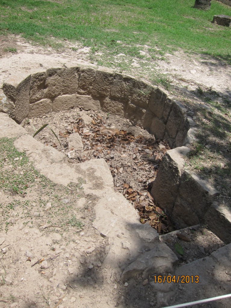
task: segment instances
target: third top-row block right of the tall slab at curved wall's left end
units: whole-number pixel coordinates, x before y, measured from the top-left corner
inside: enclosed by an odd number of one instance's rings
[[[79,86],[79,67],[66,68],[64,74],[63,91],[62,94],[75,94]]]

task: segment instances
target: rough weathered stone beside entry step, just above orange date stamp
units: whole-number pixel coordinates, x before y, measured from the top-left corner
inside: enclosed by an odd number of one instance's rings
[[[121,280],[128,280],[141,273],[143,278],[147,278],[152,272],[163,274],[171,271],[177,262],[175,253],[166,244],[156,243],[155,249],[143,253],[125,268]]]

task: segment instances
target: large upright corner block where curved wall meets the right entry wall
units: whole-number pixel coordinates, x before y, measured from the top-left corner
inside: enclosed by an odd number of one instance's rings
[[[155,202],[168,214],[172,214],[174,201],[178,194],[181,175],[184,172],[183,155],[190,152],[189,148],[180,147],[169,150],[163,157],[156,180],[152,186]]]

